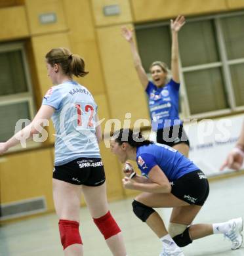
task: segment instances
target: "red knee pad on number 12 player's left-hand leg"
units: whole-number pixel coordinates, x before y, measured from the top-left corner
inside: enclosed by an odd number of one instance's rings
[[[58,226],[61,243],[64,249],[72,244],[82,244],[81,236],[79,234],[79,223],[77,223],[77,221],[60,219]]]

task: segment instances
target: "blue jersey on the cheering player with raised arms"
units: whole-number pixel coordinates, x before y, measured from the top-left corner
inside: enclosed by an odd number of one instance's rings
[[[178,115],[179,89],[180,84],[173,79],[161,88],[151,81],[148,83],[146,93],[153,131],[182,124]]]

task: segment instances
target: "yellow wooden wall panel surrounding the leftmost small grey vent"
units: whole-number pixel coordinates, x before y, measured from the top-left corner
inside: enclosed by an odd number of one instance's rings
[[[26,11],[31,35],[68,30],[62,0],[26,0]],[[56,22],[41,24],[39,15],[51,12],[56,14]]]

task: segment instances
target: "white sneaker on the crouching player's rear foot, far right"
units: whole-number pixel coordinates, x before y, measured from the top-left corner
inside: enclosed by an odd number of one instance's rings
[[[231,219],[228,223],[230,225],[230,231],[224,233],[224,236],[232,241],[232,250],[238,249],[243,242],[241,234],[241,231],[243,230],[243,219]]]

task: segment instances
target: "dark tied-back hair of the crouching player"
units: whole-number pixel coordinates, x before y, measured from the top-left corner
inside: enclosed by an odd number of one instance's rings
[[[115,131],[115,133],[113,133],[113,139],[115,140],[115,142],[118,142],[120,145],[123,142],[127,142],[133,148],[136,148],[138,146],[148,146],[149,144],[153,144],[152,141],[146,140],[140,132],[133,133],[131,129],[120,129],[119,131]]]

